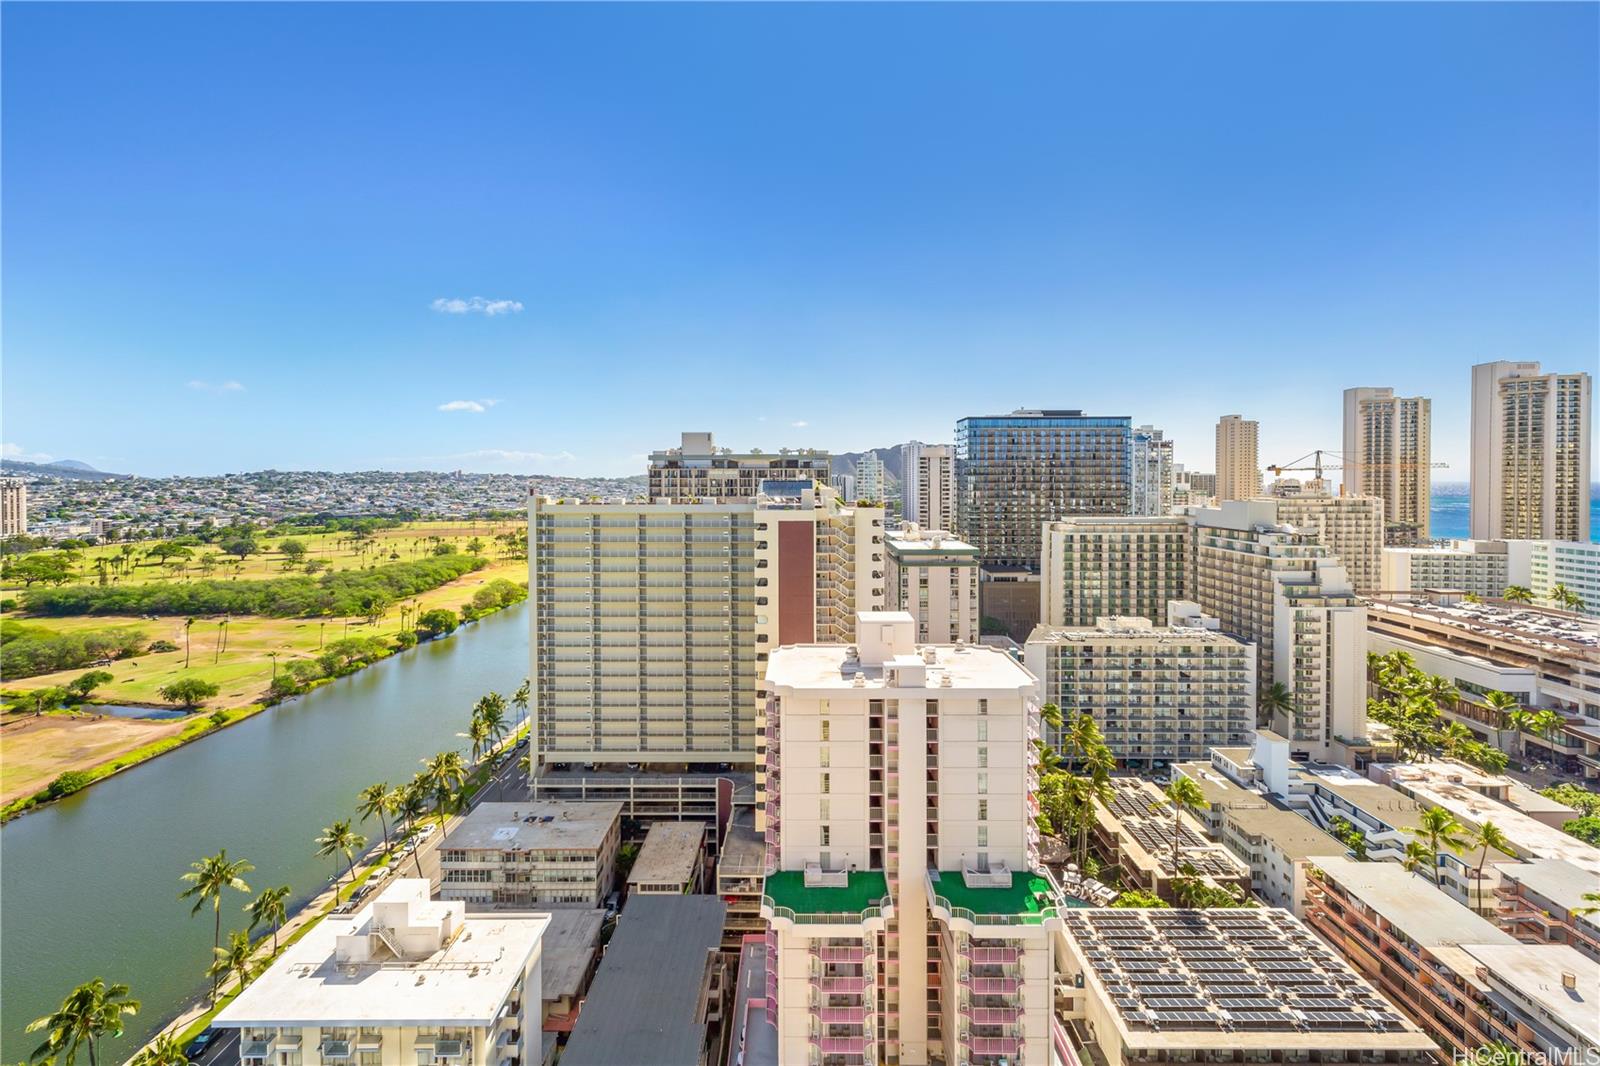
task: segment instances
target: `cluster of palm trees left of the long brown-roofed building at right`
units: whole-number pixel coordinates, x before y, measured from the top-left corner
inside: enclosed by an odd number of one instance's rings
[[[1510,762],[1506,752],[1480,741],[1466,725],[1443,717],[1442,711],[1461,699],[1454,682],[1419,671],[1406,651],[1368,653],[1366,675],[1386,693],[1382,699],[1366,701],[1366,717],[1394,730],[1395,754],[1402,760],[1440,752],[1486,773],[1506,770]],[[1502,691],[1485,693],[1483,706],[1512,725],[1522,720],[1518,715],[1534,714],[1525,712],[1515,696]]]

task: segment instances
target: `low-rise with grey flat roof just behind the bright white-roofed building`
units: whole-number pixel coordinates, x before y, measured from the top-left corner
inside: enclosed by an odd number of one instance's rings
[[[621,804],[478,804],[438,850],[442,900],[600,906],[622,840]]]

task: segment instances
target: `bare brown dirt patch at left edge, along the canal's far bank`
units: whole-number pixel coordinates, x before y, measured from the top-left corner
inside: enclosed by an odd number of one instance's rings
[[[182,728],[181,719],[10,715],[0,722],[0,805],[32,795],[66,770],[90,770]]]

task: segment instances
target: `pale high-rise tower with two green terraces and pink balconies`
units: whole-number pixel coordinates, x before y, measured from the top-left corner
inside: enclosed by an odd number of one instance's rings
[[[1051,1063],[1034,677],[901,611],[856,629],[766,669],[778,1061]]]

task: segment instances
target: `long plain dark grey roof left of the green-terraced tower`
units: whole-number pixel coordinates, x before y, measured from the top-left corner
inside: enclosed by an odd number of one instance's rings
[[[706,1044],[699,1005],[725,914],[717,896],[629,898],[563,1066],[698,1066]]]

